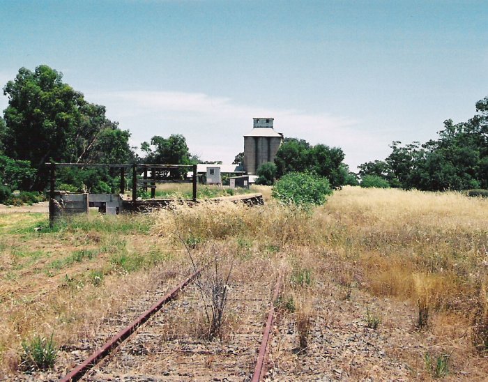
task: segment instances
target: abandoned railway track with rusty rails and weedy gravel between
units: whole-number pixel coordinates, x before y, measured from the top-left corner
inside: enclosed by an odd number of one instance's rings
[[[205,308],[192,282],[197,275],[175,286],[61,381],[259,381],[266,371],[280,277],[231,282],[223,337],[208,341],[201,339]]]

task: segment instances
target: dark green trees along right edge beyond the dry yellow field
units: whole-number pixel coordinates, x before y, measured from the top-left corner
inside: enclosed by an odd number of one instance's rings
[[[488,189],[488,97],[475,108],[478,114],[466,122],[444,121],[438,139],[392,142],[385,160],[359,166],[360,177],[406,190]]]

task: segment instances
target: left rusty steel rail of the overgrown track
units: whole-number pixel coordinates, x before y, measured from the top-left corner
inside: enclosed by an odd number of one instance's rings
[[[108,342],[106,342],[100,349],[98,349],[95,353],[91,354],[89,358],[86,358],[84,362],[79,364],[72,372],[66,375],[61,382],[69,382],[69,381],[78,381],[79,379],[84,376],[86,372],[89,371],[93,366],[95,366],[100,360],[105,358],[112,349],[115,349],[121,342],[127,339],[132,333],[139,328],[143,323],[145,323],[153,314],[158,312],[163,305],[169,303],[169,301],[173,300],[179,291],[181,291],[185,286],[190,284],[192,280],[195,279],[200,273],[201,269],[197,270],[195,273],[190,275],[186,280],[183,280],[180,284],[175,286],[171,291],[169,291],[163,298],[161,298],[157,303],[155,303],[152,307],[150,307],[146,312],[141,314],[135,321],[132,321],[128,326],[123,328],[119,333],[114,335]]]

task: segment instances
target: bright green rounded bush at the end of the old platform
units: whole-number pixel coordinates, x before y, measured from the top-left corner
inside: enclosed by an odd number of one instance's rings
[[[297,206],[323,204],[332,192],[327,178],[307,172],[291,172],[284,175],[273,187],[273,197],[284,204]]]

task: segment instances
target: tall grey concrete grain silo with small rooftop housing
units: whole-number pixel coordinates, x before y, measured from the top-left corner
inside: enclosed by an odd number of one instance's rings
[[[255,175],[263,163],[273,162],[282,140],[273,130],[273,118],[254,118],[254,128],[244,135],[244,171]]]

